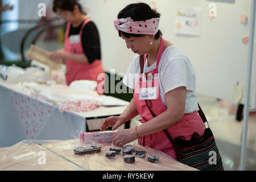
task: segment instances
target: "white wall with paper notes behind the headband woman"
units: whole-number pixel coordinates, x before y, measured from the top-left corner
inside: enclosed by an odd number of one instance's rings
[[[117,14],[129,3],[138,1],[84,0],[88,15],[96,22],[101,36],[102,61],[106,71],[115,68],[125,73],[134,57],[113,26]],[[143,1],[151,4],[152,1]],[[233,82],[246,81],[248,46],[242,36],[249,35],[249,24],[240,23],[247,14],[250,22],[250,0],[155,0],[160,14],[163,38],[187,53],[196,70],[197,93],[229,100]],[[210,20],[209,3],[216,3],[217,17]],[[176,9],[201,7],[200,36],[176,35]],[[255,82],[255,81],[254,81]]]

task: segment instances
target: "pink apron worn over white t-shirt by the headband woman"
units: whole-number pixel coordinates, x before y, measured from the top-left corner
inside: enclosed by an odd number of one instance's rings
[[[156,62],[156,68],[150,71],[149,73],[158,73],[158,65],[160,62],[160,58],[162,56],[162,53],[164,51],[164,44],[165,41],[163,38],[161,38],[160,46],[158,49],[158,56],[157,56],[157,62]],[[146,56],[144,57],[144,63],[146,61]],[[146,73],[143,73],[146,74]],[[139,89],[143,88],[145,84],[142,81],[142,75],[140,76],[137,86],[134,90],[134,103],[138,110],[138,113],[141,114],[142,119],[140,122],[144,123],[147,121],[150,121],[152,119],[152,115],[150,113],[150,110],[148,109],[146,103],[144,100],[139,100]],[[157,81],[156,81],[157,82]],[[155,113],[155,115],[159,115],[166,111],[166,106],[164,106],[163,101],[160,97],[160,90],[159,90],[159,84],[155,84],[155,81],[150,83],[152,87],[156,86],[156,93],[158,94],[158,98],[155,100],[148,100],[149,106],[151,107],[151,110]],[[197,132],[200,136],[204,134],[204,124],[198,115],[197,111],[193,113],[187,113],[184,114],[184,117],[179,121],[176,122],[174,125],[167,128],[168,133],[170,133],[171,137],[175,139],[176,137],[183,136],[186,140],[190,140],[191,136],[194,132]],[[139,144],[146,147],[151,147],[156,150],[160,150],[168,155],[170,155],[172,158],[176,158],[174,147],[172,146],[170,140],[167,138],[166,134],[164,134],[164,131],[159,131],[154,134],[146,135],[144,137],[138,138]]]

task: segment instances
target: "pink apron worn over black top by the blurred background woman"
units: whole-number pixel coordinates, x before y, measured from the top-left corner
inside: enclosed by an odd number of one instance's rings
[[[86,23],[90,22],[91,19],[85,19],[82,24],[81,30],[79,32],[80,41],[78,43],[71,43],[70,38],[68,36],[71,23],[67,24],[67,30],[65,33],[65,42],[64,42],[64,51],[71,53],[84,53],[84,49],[82,48],[82,30]],[[71,84],[74,80],[94,80],[97,81],[98,84],[102,82],[102,80],[97,80],[97,77],[100,73],[105,73],[102,67],[101,60],[94,60],[93,63],[77,63],[73,60],[65,60],[67,72],[66,72],[66,82],[67,85]],[[97,89],[97,88],[96,88]],[[104,89],[103,86],[101,89]],[[99,90],[98,90],[99,91]]]

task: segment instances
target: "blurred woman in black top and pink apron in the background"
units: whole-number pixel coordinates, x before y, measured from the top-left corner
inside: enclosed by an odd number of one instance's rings
[[[105,72],[95,24],[82,12],[76,0],[55,0],[53,11],[67,22],[64,49],[51,54],[52,59],[65,60],[67,85],[75,80],[93,80],[100,84],[102,80],[98,80],[98,75]],[[103,94],[104,85],[101,84],[100,87],[96,89],[99,94]]]

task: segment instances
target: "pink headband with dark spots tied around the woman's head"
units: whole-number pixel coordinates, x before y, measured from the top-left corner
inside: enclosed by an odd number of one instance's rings
[[[131,17],[116,19],[114,21],[115,29],[129,33],[129,34],[146,34],[155,35],[158,32],[160,18],[152,18],[134,22]]]

